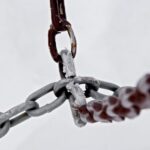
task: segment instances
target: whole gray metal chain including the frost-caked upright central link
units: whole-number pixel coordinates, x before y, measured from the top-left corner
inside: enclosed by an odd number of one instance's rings
[[[18,125],[31,117],[38,117],[49,113],[61,106],[67,99],[70,103],[75,124],[82,127],[86,122],[81,120],[77,107],[86,104],[86,97],[101,99],[106,95],[99,93],[97,91],[99,88],[111,90],[112,92],[115,92],[119,88],[115,84],[100,81],[93,77],[76,76],[71,53],[68,50],[63,50],[61,51],[61,57],[65,78],[42,87],[29,95],[24,103],[19,104],[4,113],[0,113],[0,138],[6,135],[11,127]],[[88,91],[83,91],[79,86],[80,84],[92,88]],[[56,100],[44,106],[39,106],[37,100],[50,92],[54,92],[57,97]]]

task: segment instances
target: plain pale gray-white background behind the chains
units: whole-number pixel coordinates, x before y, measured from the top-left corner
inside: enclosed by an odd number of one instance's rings
[[[150,69],[149,0],[66,0],[78,40],[78,75],[135,85]],[[0,0],[0,111],[59,80],[47,45],[48,0]],[[59,47],[69,45],[67,34]],[[65,38],[65,40],[64,40]],[[67,43],[67,44],[66,44]],[[41,99],[48,103],[54,96]],[[149,150],[150,111],[135,120],[77,128],[68,102],[11,129],[1,150]]]

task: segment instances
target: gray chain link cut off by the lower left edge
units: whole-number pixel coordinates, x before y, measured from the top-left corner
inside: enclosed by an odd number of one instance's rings
[[[3,113],[0,113],[0,115]],[[6,121],[0,125],[0,138],[5,136],[10,129],[10,121]]]

